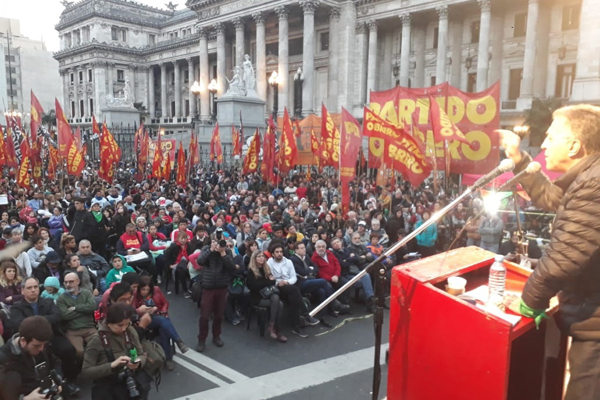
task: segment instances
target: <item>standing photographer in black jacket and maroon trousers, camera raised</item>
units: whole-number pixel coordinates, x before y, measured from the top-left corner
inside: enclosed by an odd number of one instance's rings
[[[197,263],[202,268],[202,300],[200,302],[200,320],[198,345],[196,351],[202,353],[206,349],[205,341],[208,337],[208,320],[214,313],[212,320],[212,342],[217,347],[223,346],[221,340],[221,324],[227,305],[227,287],[231,275],[235,270],[231,251],[227,249],[227,242],[217,231],[210,246],[205,246],[197,258]]]

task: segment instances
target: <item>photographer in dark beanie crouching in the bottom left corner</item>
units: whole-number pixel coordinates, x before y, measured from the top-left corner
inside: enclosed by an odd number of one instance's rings
[[[20,395],[25,395],[23,400],[46,398],[40,393],[35,366],[43,362],[50,364],[52,357],[45,350],[51,338],[52,325],[46,318],[35,315],[23,320],[19,333],[0,348],[0,398],[16,400]]]

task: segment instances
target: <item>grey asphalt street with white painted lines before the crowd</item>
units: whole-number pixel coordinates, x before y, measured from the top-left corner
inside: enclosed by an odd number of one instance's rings
[[[310,336],[300,338],[286,327],[289,341],[281,344],[267,336],[261,338],[256,318],[250,330],[242,322],[233,326],[224,322],[224,346],[215,347],[211,336],[206,351],[196,353],[199,309],[181,294],[166,294],[169,314],[179,335],[191,350],[177,353],[174,371],[163,369],[158,392],[152,400],[300,400],[307,398],[371,399],[373,377],[373,317],[360,304],[353,304],[352,315],[328,317],[337,329],[307,327]],[[362,318],[361,318],[362,317]],[[382,347],[382,383],[379,398],[385,397],[387,369],[385,350],[388,343],[388,313],[385,315]],[[319,335],[321,334],[321,335]],[[88,399],[91,383],[82,383],[80,396]]]

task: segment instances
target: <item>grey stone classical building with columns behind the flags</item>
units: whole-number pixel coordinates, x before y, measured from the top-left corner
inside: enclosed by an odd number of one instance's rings
[[[208,83],[227,89],[250,55],[257,93],[302,114],[341,107],[362,116],[370,90],[448,80],[479,91],[500,80],[502,124],[517,125],[533,97],[600,100],[600,0],[188,0],[158,10],[126,0],[82,0],[56,29],[65,109],[78,124],[101,114],[125,77],[147,124],[187,130],[211,119]],[[191,94],[197,80],[200,95]],[[227,138],[224,139],[225,141]]]

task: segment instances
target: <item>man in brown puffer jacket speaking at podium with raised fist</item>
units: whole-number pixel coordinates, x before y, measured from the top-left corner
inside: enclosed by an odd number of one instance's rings
[[[520,138],[499,130],[515,174],[530,163],[519,150]],[[533,270],[512,311],[545,316],[558,294],[559,324],[572,336],[571,379],[565,400],[600,396],[600,107],[568,106],[553,113],[544,143],[546,167],[562,172],[554,182],[543,173],[526,176],[521,185],[533,204],[556,212],[550,245]]]

